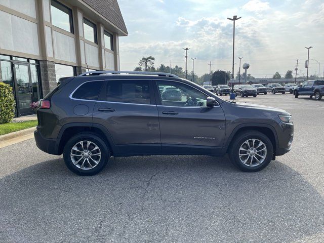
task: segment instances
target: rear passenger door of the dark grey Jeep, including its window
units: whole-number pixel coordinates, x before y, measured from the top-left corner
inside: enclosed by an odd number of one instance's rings
[[[106,80],[93,112],[121,154],[160,153],[158,111],[151,79]]]

